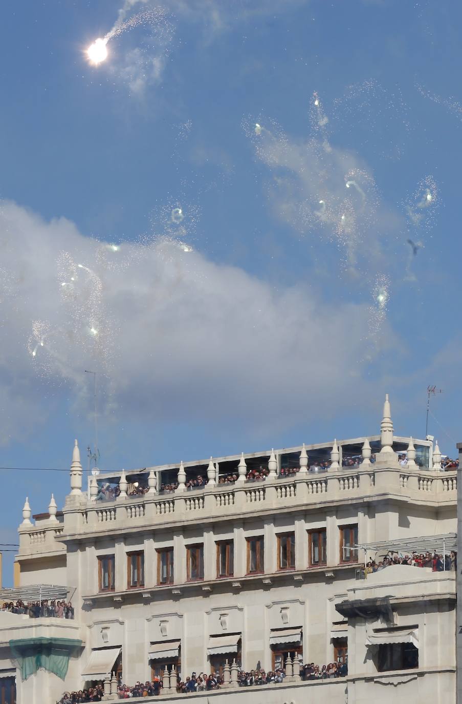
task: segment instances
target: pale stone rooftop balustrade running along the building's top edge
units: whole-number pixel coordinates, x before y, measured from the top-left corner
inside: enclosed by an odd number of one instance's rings
[[[345,501],[345,498],[373,499],[374,494],[384,492],[406,496],[411,501],[442,503],[456,501],[457,472],[434,472],[430,470],[406,469],[395,465],[366,465],[354,470],[335,470],[312,474],[300,472],[290,477],[267,478],[261,482],[236,482],[236,484],[214,484],[200,491],[172,494],[145,494],[144,496],[118,498],[116,501],[86,502],[82,507],[69,507],[65,513],[72,520],[53,527],[20,527],[20,552],[40,551],[46,546],[59,546],[58,538],[64,534],[94,532],[98,529],[120,529],[140,527],[165,521],[187,520],[188,515],[203,519],[223,515],[223,508],[236,515],[254,505],[256,510],[275,508],[297,508],[312,503],[329,505]],[[257,508],[258,507],[258,508]]]

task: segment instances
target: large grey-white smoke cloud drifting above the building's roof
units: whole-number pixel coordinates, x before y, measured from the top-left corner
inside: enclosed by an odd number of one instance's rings
[[[276,291],[174,241],[97,242],[14,203],[0,242],[3,444],[64,397],[84,409],[85,369],[109,379],[106,413],[146,426],[289,426],[361,396],[366,306],[327,305],[299,284]]]

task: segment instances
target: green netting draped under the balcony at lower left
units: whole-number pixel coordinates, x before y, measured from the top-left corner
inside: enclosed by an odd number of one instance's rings
[[[60,679],[68,674],[69,658],[82,641],[73,638],[22,638],[10,641],[13,658],[18,661],[21,679],[43,668]]]

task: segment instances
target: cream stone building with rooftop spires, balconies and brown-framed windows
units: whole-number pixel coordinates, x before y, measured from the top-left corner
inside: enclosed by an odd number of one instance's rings
[[[455,572],[364,579],[377,543],[449,550],[456,532],[456,470],[394,436],[388,399],[377,436],[99,474],[86,491],[82,474],[76,441],[62,512],[23,510],[15,586],[62,586],[75,618],[0,612],[0,688],[15,678],[19,704],[104,679],[110,699],[114,672],[157,674],[172,700],[177,678],[224,673],[204,703],[455,703]],[[302,663],[345,660],[345,677],[300,679]],[[236,684],[240,667],[286,665],[281,684]]]

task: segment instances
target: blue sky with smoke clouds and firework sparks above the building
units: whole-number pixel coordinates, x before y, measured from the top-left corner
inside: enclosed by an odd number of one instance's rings
[[[89,65],[120,9],[139,21]],[[428,384],[454,454],[461,13],[3,8],[1,466],[67,469],[93,442],[88,368],[107,470],[376,433],[385,391],[395,432],[422,437]],[[1,476],[4,542],[26,494],[40,512],[68,491],[65,472]]]

